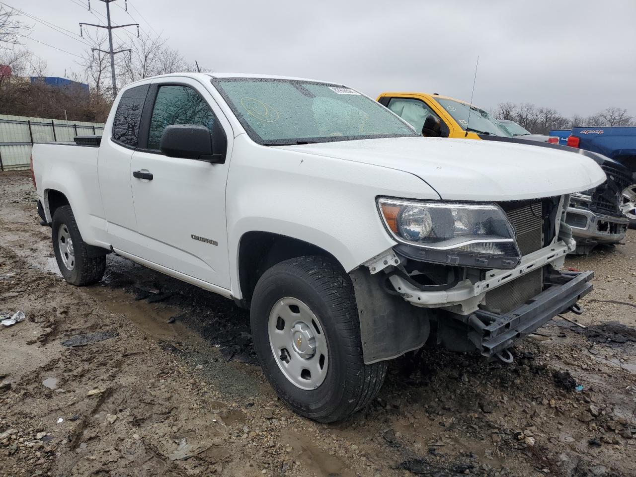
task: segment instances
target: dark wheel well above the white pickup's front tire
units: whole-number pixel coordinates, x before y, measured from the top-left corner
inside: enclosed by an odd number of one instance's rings
[[[239,244],[239,284],[242,300],[248,307],[258,279],[268,268],[281,261],[304,255],[322,255],[338,261],[328,251],[304,240],[272,232],[247,232]]]

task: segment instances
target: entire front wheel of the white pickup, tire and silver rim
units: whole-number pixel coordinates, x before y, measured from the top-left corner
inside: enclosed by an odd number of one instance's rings
[[[265,377],[300,415],[341,420],[380,391],[386,362],[364,364],[353,286],[333,260],[272,266],[254,289],[251,322]]]

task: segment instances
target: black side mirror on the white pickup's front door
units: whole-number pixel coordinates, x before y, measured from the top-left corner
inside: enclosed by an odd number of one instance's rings
[[[210,163],[225,162],[227,140],[223,130],[214,124],[214,140],[202,125],[174,124],[163,131],[159,148],[168,157],[196,159]]]

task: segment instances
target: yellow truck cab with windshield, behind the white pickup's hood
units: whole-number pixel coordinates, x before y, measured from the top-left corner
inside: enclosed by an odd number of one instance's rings
[[[513,137],[485,109],[437,93],[382,93],[378,102],[425,136],[466,139],[481,139],[480,135]]]

